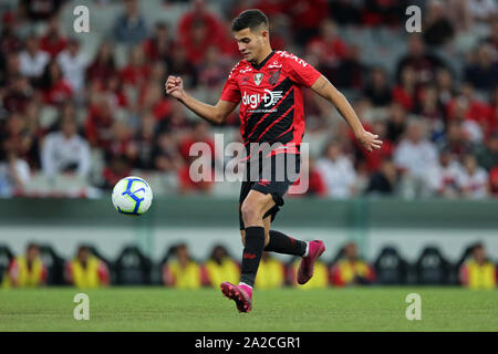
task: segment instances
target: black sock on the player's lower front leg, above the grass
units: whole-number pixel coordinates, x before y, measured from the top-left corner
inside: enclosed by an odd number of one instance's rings
[[[246,247],[242,254],[240,282],[255,285],[256,273],[264,248],[264,228],[251,226],[246,228]]]

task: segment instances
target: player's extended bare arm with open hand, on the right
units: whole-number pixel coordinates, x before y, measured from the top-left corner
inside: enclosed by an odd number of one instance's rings
[[[344,95],[339,92],[325,76],[321,75],[311,86],[311,90],[335,105],[338,111],[353,129],[356,139],[366,148],[366,150],[372,152],[373,149],[381,148],[382,140],[378,139],[378,135],[365,131],[346,97],[344,97]]]

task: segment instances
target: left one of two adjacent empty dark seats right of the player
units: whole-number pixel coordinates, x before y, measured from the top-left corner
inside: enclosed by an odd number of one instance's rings
[[[381,284],[407,284],[409,264],[394,247],[385,247],[374,262],[377,282]]]

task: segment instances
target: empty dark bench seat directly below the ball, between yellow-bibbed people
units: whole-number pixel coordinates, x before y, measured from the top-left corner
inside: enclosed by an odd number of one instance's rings
[[[151,284],[152,261],[136,246],[128,246],[117,257],[114,269],[120,285]]]

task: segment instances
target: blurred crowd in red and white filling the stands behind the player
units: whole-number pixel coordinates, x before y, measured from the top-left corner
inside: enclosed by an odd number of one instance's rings
[[[28,188],[34,175],[105,190],[136,170],[170,177],[173,192],[212,192],[214,184],[191,180],[189,147],[214,146],[214,127],[167,97],[164,82],[180,75],[186,90],[215,103],[240,60],[230,22],[248,8],[269,17],[274,50],[314,65],[384,140],[367,154],[334,108],[307,91],[305,140],[326,136],[312,149],[308,195],[498,195],[496,1],[163,1],[164,11],[185,11],[175,22],[154,23],[137,0],[94,0],[90,7],[116,3],[120,13],[94,54],[62,28],[68,1],[0,8],[0,197],[40,195]],[[422,33],[405,30],[409,4],[423,9]],[[370,65],[369,43],[343,39],[344,29],[381,29],[406,45],[394,66]],[[455,52],[469,33],[471,45]],[[118,46],[125,51],[117,53]],[[227,129],[238,125],[235,112]]]

